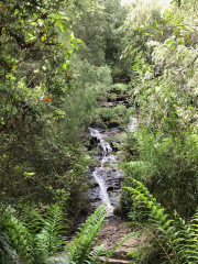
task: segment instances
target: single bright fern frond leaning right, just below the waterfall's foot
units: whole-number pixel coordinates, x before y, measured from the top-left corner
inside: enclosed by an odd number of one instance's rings
[[[96,240],[103,222],[107,217],[106,205],[100,206],[80,228],[78,238],[75,238],[73,242],[67,246],[67,256],[76,264],[84,264],[86,261],[92,263],[98,256],[97,250],[95,253],[89,253],[90,246]],[[98,252],[101,248],[98,249]]]

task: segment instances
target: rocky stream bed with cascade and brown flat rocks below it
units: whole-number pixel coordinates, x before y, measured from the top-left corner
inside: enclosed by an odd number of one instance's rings
[[[131,118],[125,130],[134,132],[138,129],[138,119]],[[95,158],[99,161],[99,165],[92,167],[89,172],[89,180],[92,183],[92,188],[89,189],[91,206],[95,209],[102,202],[106,202],[109,212],[97,244],[105,244],[107,250],[111,250],[124,235],[132,232],[132,229],[124,223],[123,219],[113,213],[113,209],[119,205],[123,175],[118,168],[118,163],[121,161],[116,153],[112,154],[113,147],[108,143],[108,136],[125,132],[119,128],[108,130],[89,128],[89,133],[92,142],[95,142],[92,144],[96,150]],[[138,245],[143,243],[145,239],[144,234],[141,238],[129,239],[114,252],[109,263],[130,263],[127,254],[136,250]]]

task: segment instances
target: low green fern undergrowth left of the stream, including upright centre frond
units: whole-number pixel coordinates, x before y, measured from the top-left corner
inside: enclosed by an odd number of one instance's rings
[[[45,213],[29,206],[19,213],[1,205],[0,263],[3,264],[97,264],[108,263],[114,251],[129,238],[125,235],[110,251],[105,244],[97,246],[98,234],[108,215],[106,205],[100,206],[81,228],[72,242],[62,235],[65,227],[63,209],[52,206]]]

